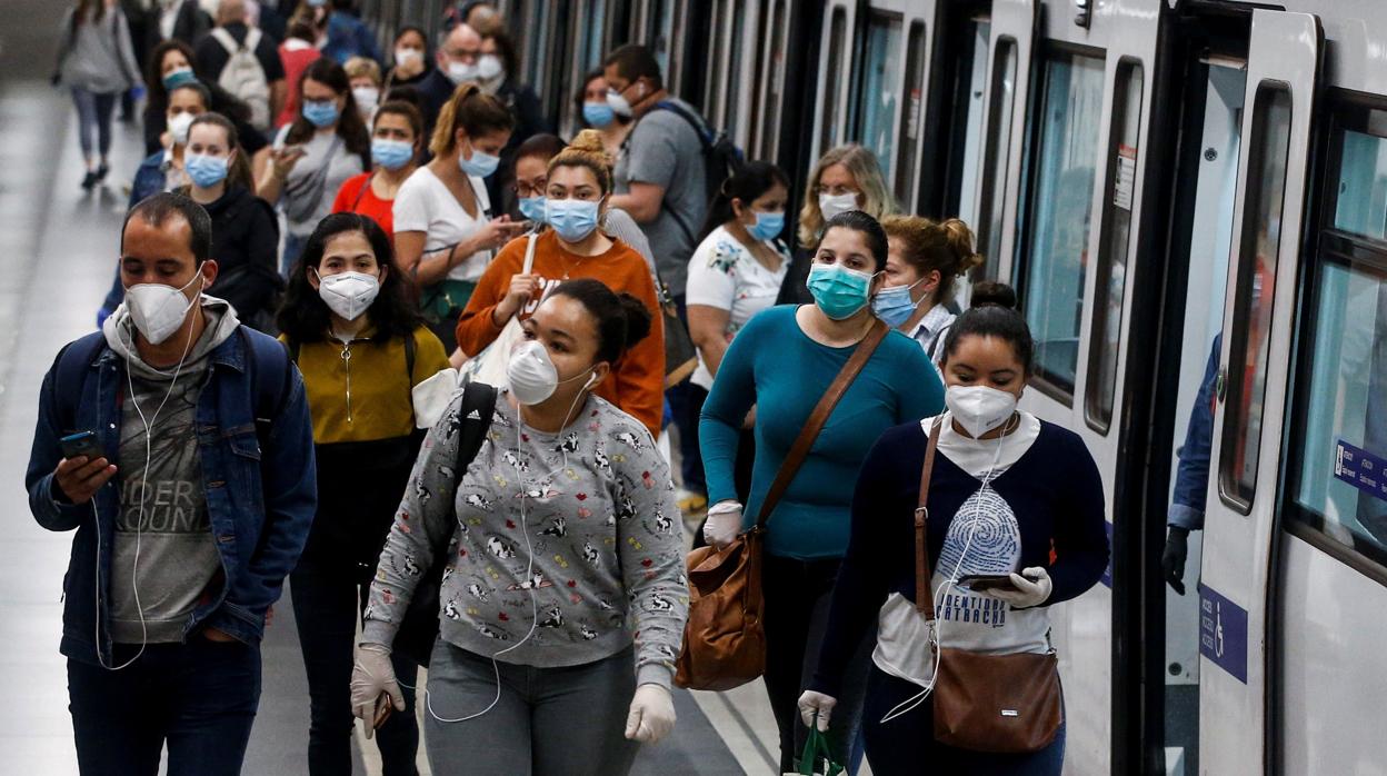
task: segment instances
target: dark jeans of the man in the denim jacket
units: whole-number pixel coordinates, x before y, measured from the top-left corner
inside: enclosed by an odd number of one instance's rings
[[[139,644],[117,644],[123,665]],[[259,646],[208,641],[148,644],[121,670],[68,659],[68,698],[78,768],[85,776],[155,776],[169,748],[169,776],[234,776],[259,705]]]

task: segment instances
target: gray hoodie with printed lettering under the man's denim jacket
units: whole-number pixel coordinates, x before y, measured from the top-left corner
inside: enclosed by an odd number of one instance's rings
[[[111,636],[117,643],[182,641],[193,608],[215,594],[221,580],[194,416],[208,354],[236,333],[240,321],[226,301],[203,296],[201,304],[207,328],[175,369],[155,369],[140,358],[125,304],[101,328],[129,375],[119,387],[115,455],[121,512],[111,554]]]

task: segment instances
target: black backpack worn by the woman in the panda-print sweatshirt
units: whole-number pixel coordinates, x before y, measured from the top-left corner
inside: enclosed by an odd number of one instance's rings
[[[458,482],[467,473],[467,465],[477,457],[483,440],[487,439],[487,429],[491,428],[491,414],[497,408],[497,389],[477,382],[469,382],[462,389],[462,408],[459,418],[462,430],[458,432],[458,458],[454,464]],[[441,422],[441,421],[440,421]],[[440,591],[442,587],[442,571],[448,565],[448,543],[452,541],[451,530],[444,532],[440,541],[433,547],[433,565],[429,573],[419,580],[415,594],[409,598],[409,608],[399,621],[395,632],[395,641],[391,650],[405,655],[419,665],[429,666],[429,655],[433,654],[434,641],[438,640]]]

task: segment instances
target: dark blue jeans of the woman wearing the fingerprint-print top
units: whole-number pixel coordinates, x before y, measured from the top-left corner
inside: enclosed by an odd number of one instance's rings
[[[968,773],[971,776],[1060,776],[1064,768],[1064,725],[1049,747],[1031,754],[992,754],[946,747],[935,740],[935,705],[931,700],[882,725],[881,719],[920,687],[882,672],[875,665],[867,677],[863,734],[867,762],[877,776]]]

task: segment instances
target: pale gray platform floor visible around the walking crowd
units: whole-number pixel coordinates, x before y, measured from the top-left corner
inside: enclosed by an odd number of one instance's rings
[[[62,4],[6,0],[0,29],[0,751],[6,773],[76,773],[58,655],[71,534],[32,519],[22,487],[40,380],[64,343],[92,330],[114,271],[140,129],[115,125],[112,174],[96,192],[76,118],[47,85]],[[264,695],[244,773],[307,773],[308,690],[287,600],[264,644]],[[774,723],[760,686],[675,698],[673,736],[639,757],[642,775],[774,773]],[[358,739],[356,773],[379,773]],[[420,757],[420,764],[423,758]],[[427,773],[426,764],[423,772]]]

